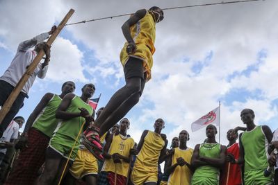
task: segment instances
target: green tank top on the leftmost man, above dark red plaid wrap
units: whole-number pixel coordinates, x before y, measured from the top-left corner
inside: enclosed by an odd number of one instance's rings
[[[61,101],[62,99],[60,98],[60,96],[54,94],[51,100],[49,100],[49,103],[47,103],[47,106],[44,107],[38,117],[35,118],[32,127],[40,130],[40,132],[46,134],[47,136],[49,136],[49,138],[51,138],[58,124],[58,119],[56,119],[55,114]]]

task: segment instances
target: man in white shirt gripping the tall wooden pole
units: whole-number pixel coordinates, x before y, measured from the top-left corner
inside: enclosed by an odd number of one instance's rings
[[[10,121],[13,120],[17,112],[19,112],[19,109],[23,106],[24,98],[28,98],[27,94],[33,85],[33,82],[35,81],[35,77],[38,76],[38,78],[41,79],[45,77],[50,60],[50,46],[46,44],[46,42],[42,41],[47,39],[49,35],[54,33],[55,30],[56,26],[53,26],[48,33],[42,33],[33,37],[33,39],[28,39],[24,42],[21,42],[17,48],[15,58],[13,58],[13,61],[10,63],[10,67],[8,67],[8,69],[3,73],[3,76],[0,77],[0,106],[3,106],[5,101],[8,99],[8,96],[19,82],[20,78],[22,78],[26,72],[26,69],[35,59],[36,55],[38,55],[41,49],[44,50],[46,55],[44,62],[40,62],[33,74],[29,76],[22,91],[15,99],[15,103],[13,103],[10,111],[5,116],[5,118],[3,118],[3,121],[0,124],[0,137],[6,130],[6,127],[8,127]],[[35,46],[35,49],[31,50],[33,46]]]

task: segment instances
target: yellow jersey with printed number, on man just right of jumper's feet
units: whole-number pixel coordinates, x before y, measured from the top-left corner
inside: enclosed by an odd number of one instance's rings
[[[113,155],[115,153],[119,153],[124,157],[129,157],[129,150],[134,147],[134,140],[129,137],[123,136],[121,134],[114,135],[111,146],[108,150],[108,154]],[[101,171],[105,172],[113,172],[124,177],[127,177],[127,173],[129,172],[129,163],[121,160],[122,163],[115,164],[113,159],[105,159],[104,166]]]

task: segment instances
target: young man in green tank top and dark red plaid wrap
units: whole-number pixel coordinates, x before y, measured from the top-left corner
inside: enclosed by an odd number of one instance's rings
[[[62,85],[60,95],[44,94],[30,114],[17,143],[22,150],[7,184],[33,184],[40,166],[44,163],[45,150],[58,123],[55,117],[56,110],[64,96],[74,90],[74,82],[68,81]]]

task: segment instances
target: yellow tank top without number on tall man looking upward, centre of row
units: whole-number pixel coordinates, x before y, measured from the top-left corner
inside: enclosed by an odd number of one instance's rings
[[[161,138],[161,134],[148,131],[134,166],[142,166],[146,170],[156,172],[158,170],[158,159],[164,145],[165,142]]]

